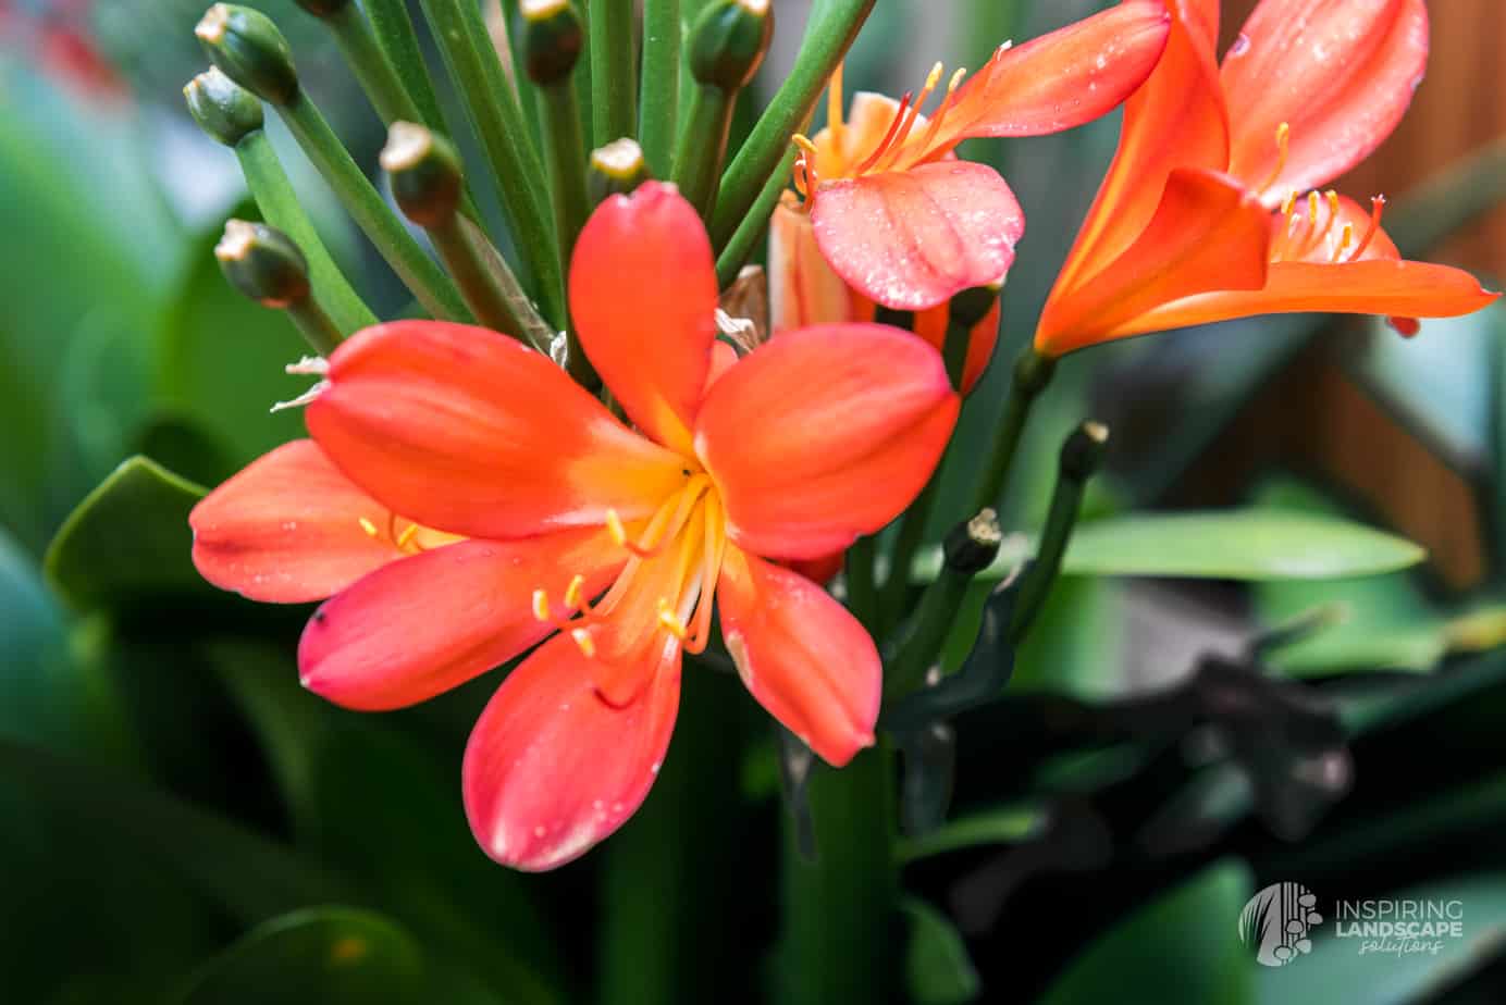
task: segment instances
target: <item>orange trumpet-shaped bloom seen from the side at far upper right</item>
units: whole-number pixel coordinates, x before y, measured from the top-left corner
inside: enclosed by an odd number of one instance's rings
[[[1036,329],[1036,351],[1251,314],[1467,314],[1495,295],[1405,262],[1369,211],[1318,190],[1396,128],[1428,60],[1423,0],[1264,0],[1215,62],[1218,0],[1166,0],[1166,54]]]

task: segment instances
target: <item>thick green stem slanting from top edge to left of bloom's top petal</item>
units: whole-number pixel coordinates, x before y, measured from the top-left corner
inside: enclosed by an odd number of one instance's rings
[[[562,325],[565,286],[559,245],[538,199],[544,165],[529,138],[527,119],[491,45],[480,9],[468,0],[423,0],[423,12],[486,152],[514,245],[538,280],[545,314]]]

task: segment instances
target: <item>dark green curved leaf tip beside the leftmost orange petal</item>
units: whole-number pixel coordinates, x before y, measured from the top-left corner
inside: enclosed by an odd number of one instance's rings
[[[188,512],[205,490],[146,457],[131,457],[57,531],[44,569],[80,609],[149,605],[209,593],[193,567]]]

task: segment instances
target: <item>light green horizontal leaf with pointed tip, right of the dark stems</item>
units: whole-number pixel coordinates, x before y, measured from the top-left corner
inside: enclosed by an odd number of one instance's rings
[[[1001,579],[1033,546],[1012,539],[983,576]],[[1081,524],[1063,575],[1173,576],[1187,579],[1337,579],[1416,566],[1426,552],[1408,540],[1352,521],[1279,509],[1133,513]],[[935,578],[940,554],[913,575]]]

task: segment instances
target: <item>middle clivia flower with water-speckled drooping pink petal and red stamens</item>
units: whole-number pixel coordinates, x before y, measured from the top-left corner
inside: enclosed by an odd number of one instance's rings
[[[870,319],[875,304],[916,311],[916,334],[941,348],[946,301],[1000,283],[1024,233],[1024,214],[991,167],[953,149],[973,137],[1060,132],[1117,107],[1146,78],[1166,44],[1158,0],[1120,6],[1033,39],[1001,45],[964,83],[938,89],[937,65],[919,95],[893,101],[860,92],[846,117],[842,75],[828,89],[830,125],[801,140],[795,185],[774,211],[770,286],[774,331],[822,320]],[[992,355],[997,313],[974,329],[964,387]]]

